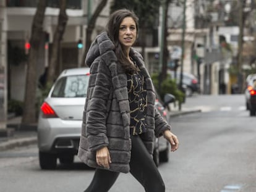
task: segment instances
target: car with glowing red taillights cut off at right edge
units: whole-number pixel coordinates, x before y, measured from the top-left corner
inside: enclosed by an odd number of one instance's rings
[[[256,112],[256,77],[250,78],[245,90],[245,105],[250,111],[250,116],[255,116]]]

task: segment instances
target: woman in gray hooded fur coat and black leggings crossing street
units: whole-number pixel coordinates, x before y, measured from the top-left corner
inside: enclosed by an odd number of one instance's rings
[[[179,141],[155,109],[150,75],[132,48],[137,37],[137,16],[117,10],[87,54],[90,80],[78,156],[96,170],[86,192],[108,191],[120,172],[132,173],[145,191],[165,190],[152,158],[154,137],[163,135],[171,151]]]

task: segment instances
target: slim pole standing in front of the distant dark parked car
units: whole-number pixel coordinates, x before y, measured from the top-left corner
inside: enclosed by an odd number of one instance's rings
[[[184,65],[184,49],[185,49],[185,34],[186,34],[186,7],[187,0],[184,0],[183,7],[183,23],[182,23],[182,41],[181,41],[181,75],[179,81],[179,88],[182,90],[182,79],[183,79],[183,65]]]

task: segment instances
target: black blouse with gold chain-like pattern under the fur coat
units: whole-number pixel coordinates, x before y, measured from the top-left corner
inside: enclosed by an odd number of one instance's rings
[[[134,74],[127,74],[127,89],[130,102],[131,135],[140,135],[147,130],[147,123],[145,120],[147,112],[146,83],[138,67],[137,69],[138,71]]]

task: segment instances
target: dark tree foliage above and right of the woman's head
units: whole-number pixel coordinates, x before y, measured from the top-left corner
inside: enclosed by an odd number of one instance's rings
[[[160,0],[130,0],[130,1],[113,1],[111,6],[111,12],[117,9],[130,9],[135,12],[135,14],[139,17],[139,38],[140,38],[140,46],[142,46],[142,55],[145,54],[145,46],[146,46],[146,33],[148,31],[152,31],[153,28],[156,28],[156,23],[158,23],[159,17],[159,7]]]

